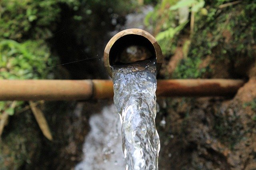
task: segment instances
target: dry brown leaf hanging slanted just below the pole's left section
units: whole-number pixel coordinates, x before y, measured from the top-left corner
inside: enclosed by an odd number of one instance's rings
[[[50,128],[48,126],[48,123],[44,117],[44,114],[40,109],[36,107],[36,104],[33,103],[32,101],[29,101],[30,108],[34,114],[34,117],[36,118],[36,121],[42,130],[44,136],[48,138],[49,140],[52,140],[52,134],[50,132]]]

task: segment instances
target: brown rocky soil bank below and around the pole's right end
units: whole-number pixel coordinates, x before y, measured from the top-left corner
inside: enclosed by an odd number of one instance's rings
[[[159,169],[256,169],[256,106],[250,104],[256,99],[255,70],[234,97],[158,99]],[[218,75],[230,77],[222,68]]]

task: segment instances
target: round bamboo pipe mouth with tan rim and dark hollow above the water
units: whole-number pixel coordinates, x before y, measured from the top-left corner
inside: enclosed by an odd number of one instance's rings
[[[156,59],[156,69],[162,65],[162,51],[156,39],[148,32],[132,28],[112,37],[104,50],[104,66],[112,77],[111,66]]]

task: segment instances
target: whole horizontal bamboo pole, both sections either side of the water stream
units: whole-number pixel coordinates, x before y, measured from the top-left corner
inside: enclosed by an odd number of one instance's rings
[[[233,79],[158,80],[156,95],[227,96],[243,84]],[[108,99],[113,95],[111,80],[0,80],[0,101]]]

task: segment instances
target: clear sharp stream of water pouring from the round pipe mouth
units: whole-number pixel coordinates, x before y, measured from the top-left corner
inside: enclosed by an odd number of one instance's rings
[[[157,170],[156,61],[112,67],[114,103],[122,123],[126,170]]]

